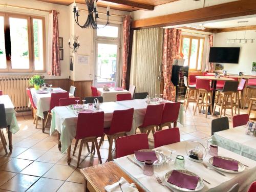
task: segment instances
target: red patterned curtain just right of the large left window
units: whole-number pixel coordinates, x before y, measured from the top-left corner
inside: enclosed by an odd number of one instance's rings
[[[60,59],[59,59],[59,26],[58,26],[58,12],[52,10],[53,14],[53,36],[52,36],[52,65],[49,69],[49,75],[60,76]]]

